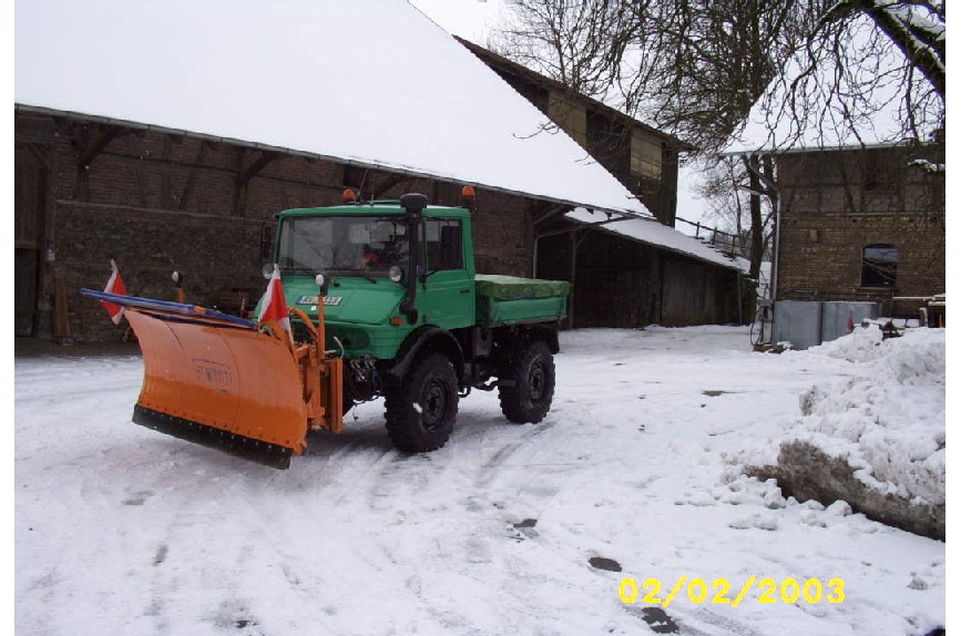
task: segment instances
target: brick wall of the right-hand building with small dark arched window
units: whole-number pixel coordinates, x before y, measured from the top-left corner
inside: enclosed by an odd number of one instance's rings
[[[878,301],[944,291],[944,148],[776,155],[776,300]]]

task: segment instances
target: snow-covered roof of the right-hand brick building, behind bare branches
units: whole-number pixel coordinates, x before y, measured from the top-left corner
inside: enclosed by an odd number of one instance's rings
[[[771,147],[939,137],[943,2],[830,2],[758,106]]]

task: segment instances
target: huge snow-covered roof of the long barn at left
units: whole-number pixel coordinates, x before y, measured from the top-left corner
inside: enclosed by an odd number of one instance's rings
[[[650,214],[406,0],[19,0],[14,103]]]

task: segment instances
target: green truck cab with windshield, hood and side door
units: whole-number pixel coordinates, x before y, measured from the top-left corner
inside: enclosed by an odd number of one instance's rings
[[[456,330],[476,322],[468,209],[426,207],[409,218],[399,202],[380,201],[278,216],[276,263],[287,304],[316,319],[314,278],[326,273],[328,346],[346,357],[392,359],[416,326]]]

